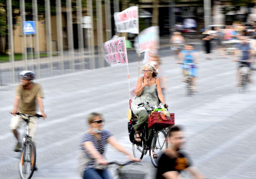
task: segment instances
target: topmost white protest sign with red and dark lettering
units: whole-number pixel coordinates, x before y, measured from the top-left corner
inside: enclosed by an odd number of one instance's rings
[[[139,33],[139,11],[137,6],[131,6],[122,12],[114,14],[116,31]]]

